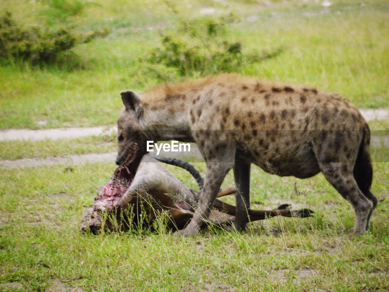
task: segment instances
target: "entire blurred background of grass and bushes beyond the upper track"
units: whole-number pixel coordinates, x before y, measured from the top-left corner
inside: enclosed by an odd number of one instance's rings
[[[123,90],[219,71],[388,104],[386,1],[3,0],[0,11],[0,128],[112,124]]]

